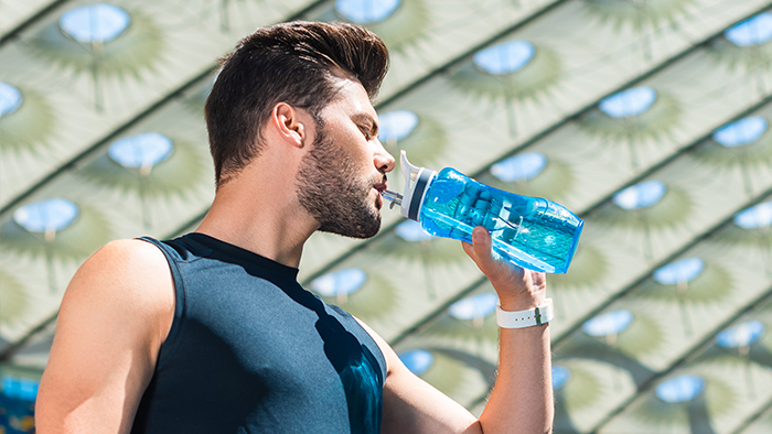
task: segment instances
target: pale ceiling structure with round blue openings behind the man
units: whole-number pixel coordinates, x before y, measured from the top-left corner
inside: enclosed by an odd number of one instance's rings
[[[586,220],[548,278],[556,433],[772,431],[769,0],[4,0],[0,17],[4,394],[34,397],[92,252],[205,214],[215,59],[259,25],[335,20],[389,46],[392,153]],[[495,295],[458,242],[384,210],[373,239],[315,234],[300,279],[482,411]]]

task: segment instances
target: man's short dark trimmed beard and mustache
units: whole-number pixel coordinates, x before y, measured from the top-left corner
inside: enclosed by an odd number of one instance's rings
[[[362,180],[357,166],[318,122],[317,139],[297,175],[300,205],[320,224],[319,230],[352,238],[371,238],[380,229],[380,213],[369,192],[386,175]]]

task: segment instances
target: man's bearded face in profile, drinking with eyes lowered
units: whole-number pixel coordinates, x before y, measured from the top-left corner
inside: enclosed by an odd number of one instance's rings
[[[380,229],[380,192],[394,158],[377,134],[377,115],[362,85],[341,79],[337,99],[326,106],[298,172],[300,204],[319,230],[369,238]]]

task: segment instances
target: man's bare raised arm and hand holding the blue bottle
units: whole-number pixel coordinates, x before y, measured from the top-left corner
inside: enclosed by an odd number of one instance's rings
[[[542,304],[544,273],[512,267],[491,254],[484,228],[464,251],[498,293],[504,311]],[[369,332],[369,330],[368,330]],[[371,332],[371,334],[374,334]],[[384,386],[383,432],[395,433],[550,433],[554,419],[549,325],[502,329],[498,376],[480,420],[463,406],[412,375],[394,350],[376,336],[388,365]]]

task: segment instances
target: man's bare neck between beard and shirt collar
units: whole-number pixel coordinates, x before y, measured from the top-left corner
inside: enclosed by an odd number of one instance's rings
[[[298,202],[293,176],[266,176],[271,171],[251,165],[218,188],[195,231],[297,268],[319,224]]]

